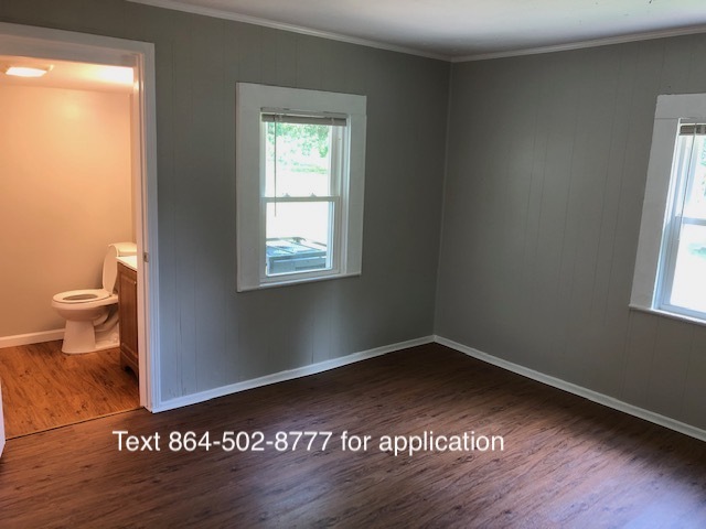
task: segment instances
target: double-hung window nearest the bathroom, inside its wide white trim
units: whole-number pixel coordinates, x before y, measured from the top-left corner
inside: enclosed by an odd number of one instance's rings
[[[265,277],[335,270],[346,119],[263,112],[261,120]]]

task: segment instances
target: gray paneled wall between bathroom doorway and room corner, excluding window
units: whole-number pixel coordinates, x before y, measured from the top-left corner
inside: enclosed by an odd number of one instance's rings
[[[449,64],[118,0],[0,20],[156,44],[163,400],[432,334]],[[367,96],[361,278],[236,294],[238,80]]]

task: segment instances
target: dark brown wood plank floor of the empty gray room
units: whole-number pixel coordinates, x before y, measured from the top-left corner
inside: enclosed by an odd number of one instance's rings
[[[118,451],[116,430],[159,433],[161,450]],[[310,452],[170,451],[188,431],[334,433]],[[341,450],[344,431],[368,450]],[[502,435],[504,451],[377,449],[424,431]],[[10,440],[0,512],[13,528],[703,528],[706,443],[428,345]]]

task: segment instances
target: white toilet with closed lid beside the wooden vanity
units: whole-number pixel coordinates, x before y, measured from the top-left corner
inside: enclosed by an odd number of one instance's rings
[[[69,290],[54,295],[52,306],[66,320],[64,353],[93,353],[118,347],[117,258],[135,255],[135,242],[108,245],[103,260],[103,289]]]

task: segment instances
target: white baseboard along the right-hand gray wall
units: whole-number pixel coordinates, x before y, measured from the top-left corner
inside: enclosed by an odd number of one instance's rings
[[[599,393],[598,391],[593,391],[591,389],[567,382],[566,380],[561,380],[560,378],[555,378],[549,375],[535,371],[534,369],[521,366],[518,364],[503,360],[502,358],[498,358],[496,356],[489,355],[481,350],[474,349],[473,347],[459,344],[442,336],[434,336],[434,341],[437,344],[445,345],[460,353],[463,353],[464,355],[472,356],[473,358],[485,361],[488,364],[492,364],[493,366],[498,366],[503,369],[507,369],[509,371],[516,373],[517,375],[522,375],[523,377],[527,377],[538,382],[546,384],[547,386],[563,389],[564,391],[568,391],[569,393],[578,395],[579,397],[584,397],[585,399],[588,399],[590,401],[607,406],[608,408],[622,411],[623,413],[628,413],[640,419],[644,419],[645,421],[653,422],[654,424],[659,424],[660,427],[668,428],[670,430],[689,435],[692,438],[698,439],[699,441],[706,441],[706,430],[702,430],[675,419],[661,415],[660,413],[655,413],[653,411],[629,404],[628,402],[623,402],[622,400],[618,400],[613,397]]]

